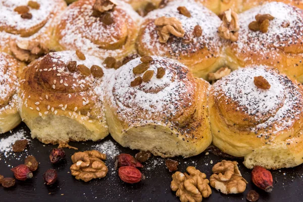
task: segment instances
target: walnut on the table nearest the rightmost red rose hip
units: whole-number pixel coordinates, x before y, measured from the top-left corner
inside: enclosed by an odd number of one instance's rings
[[[237,165],[235,161],[223,160],[217,163],[212,169],[214,174],[210,177],[211,186],[224,194],[244,192],[247,181]]]

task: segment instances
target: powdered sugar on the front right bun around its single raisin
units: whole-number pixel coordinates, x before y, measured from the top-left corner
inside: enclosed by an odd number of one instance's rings
[[[271,88],[258,88],[254,84],[255,76],[263,76]],[[216,82],[213,90],[217,99],[221,96],[226,99],[222,102],[231,99],[239,106],[236,110],[259,120],[251,131],[266,129],[277,133],[290,128],[302,113],[303,97],[299,87],[286,76],[264,66],[236,70]]]

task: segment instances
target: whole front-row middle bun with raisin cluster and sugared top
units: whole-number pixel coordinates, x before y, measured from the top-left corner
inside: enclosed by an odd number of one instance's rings
[[[174,60],[134,59],[116,71],[106,88],[110,133],[122,146],[154,155],[198,155],[212,141],[209,86]]]

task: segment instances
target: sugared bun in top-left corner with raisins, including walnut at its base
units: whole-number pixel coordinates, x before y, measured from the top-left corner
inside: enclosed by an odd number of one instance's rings
[[[52,34],[56,17],[65,8],[64,0],[1,0],[0,51],[30,62],[57,49]]]

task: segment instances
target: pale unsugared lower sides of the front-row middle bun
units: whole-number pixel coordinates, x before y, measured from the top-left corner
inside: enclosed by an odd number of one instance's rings
[[[195,117],[192,118],[195,121],[187,126],[198,125],[195,132],[203,134],[203,138],[199,138],[197,141],[184,141],[184,138],[182,139],[183,136],[178,135],[179,131],[177,129],[171,129],[170,126],[173,124],[171,122],[146,123],[145,125],[131,123],[131,121],[121,122],[106,100],[106,119],[110,128],[110,134],[124,147],[150,151],[153,155],[163,158],[176,156],[186,158],[202,153],[212,142],[208,108],[206,107],[207,92],[205,91],[205,87],[203,87],[206,85],[205,82],[200,79],[197,82],[198,89],[200,89],[199,106],[197,106],[196,113],[194,114]],[[196,122],[199,122],[199,124]]]

